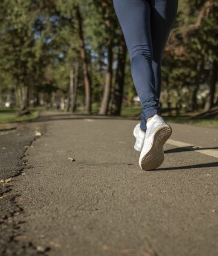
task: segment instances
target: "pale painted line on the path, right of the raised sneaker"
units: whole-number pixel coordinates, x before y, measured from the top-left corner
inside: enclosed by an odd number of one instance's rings
[[[218,151],[215,149],[207,149],[202,146],[193,146],[193,144],[189,144],[186,142],[178,142],[178,140],[171,140],[171,139],[169,139],[166,143],[172,146],[183,147],[190,151],[195,151],[204,155],[210,155],[210,157],[218,158]]]

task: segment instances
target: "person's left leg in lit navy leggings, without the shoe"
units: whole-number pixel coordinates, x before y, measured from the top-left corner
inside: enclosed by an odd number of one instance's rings
[[[142,105],[141,129],[159,112],[152,67],[151,6],[147,0],[114,0],[114,8],[130,54],[133,82]]]

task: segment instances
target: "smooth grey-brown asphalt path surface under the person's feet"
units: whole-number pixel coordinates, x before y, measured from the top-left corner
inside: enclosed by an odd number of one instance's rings
[[[30,126],[46,130],[25,149],[26,167],[6,193],[19,195],[18,245],[50,256],[217,255],[216,157],[165,144],[165,162],[146,172],[133,149],[138,120],[37,121]],[[217,151],[217,128],[170,124],[172,140]]]

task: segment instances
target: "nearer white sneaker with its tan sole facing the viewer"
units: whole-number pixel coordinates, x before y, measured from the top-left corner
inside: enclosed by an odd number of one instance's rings
[[[158,114],[147,122],[145,142],[139,157],[139,166],[142,170],[153,170],[163,163],[163,145],[171,134],[171,126]]]

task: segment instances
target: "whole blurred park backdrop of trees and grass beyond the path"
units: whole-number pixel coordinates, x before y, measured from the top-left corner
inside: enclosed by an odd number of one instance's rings
[[[217,122],[217,20],[216,0],[180,1],[163,57],[166,118]],[[112,0],[0,1],[0,123],[43,110],[140,117]]]

